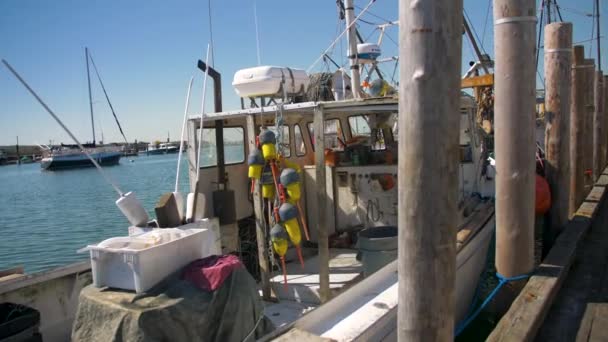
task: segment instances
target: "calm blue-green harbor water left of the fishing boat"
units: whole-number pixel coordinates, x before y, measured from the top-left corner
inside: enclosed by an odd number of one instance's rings
[[[133,162],[130,162],[133,160]],[[154,216],[154,205],[173,191],[177,154],[125,157],[107,167],[122,191],[134,191]],[[188,190],[187,155],[180,190]],[[0,270],[23,265],[26,272],[85,260],[76,250],[127,235],[128,221],[114,204],[117,194],[95,168],[42,171],[40,165],[0,167]]]

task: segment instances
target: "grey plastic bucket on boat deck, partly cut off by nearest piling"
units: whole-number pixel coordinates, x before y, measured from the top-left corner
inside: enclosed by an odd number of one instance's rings
[[[381,269],[397,258],[397,227],[363,229],[357,240],[357,260],[363,264],[363,276]]]

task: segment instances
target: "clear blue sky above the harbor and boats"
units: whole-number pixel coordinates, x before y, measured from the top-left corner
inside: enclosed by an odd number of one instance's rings
[[[0,1],[0,57],[7,59],[48,105],[82,140],[91,140],[84,47],[88,46],[100,69],[114,108],[129,140],[179,138],[187,82],[196,75],[190,112],[200,112],[202,73],[196,61],[204,59],[209,42],[208,1]],[[253,16],[254,0],[211,0],[215,66],[223,74],[224,109],[236,109],[232,89],[234,72],[257,65]],[[540,1],[537,1],[540,2]],[[605,3],[605,1],[601,1]],[[368,0],[355,0],[365,7]],[[493,55],[492,13],[486,20],[488,0],[465,0],[485,50]],[[575,25],[574,41],[591,36],[593,0],[559,0],[565,21]],[[608,34],[608,4],[601,31]],[[367,21],[396,20],[398,1],[377,0]],[[357,11],[360,11],[358,9]],[[307,69],[343,29],[338,27],[334,0],[257,0],[263,65]],[[485,34],[484,34],[485,27]],[[364,37],[377,38],[371,25],[361,23]],[[387,34],[397,40],[397,28]],[[396,45],[385,39],[385,56]],[[586,44],[586,54],[590,43]],[[608,68],[608,41],[602,57]],[[333,57],[343,62],[345,45]],[[592,58],[595,58],[593,47]],[[463,68],[472,59],[463,44]],[[542,58],[541,58],[542,62]],[[319,64],[317,70],[323,70]],[[392,68],[385,70],[392,73]],[[94,77],[94,74],[92,74]],[[120,141],[101,88],[92,79],[97,139]],[[210,87],[209,87],[210,88]],[[211,94],[209,92],[209,94]],[[207,109],[211,109],[208,96]],[[101,127],[101,129],[100,129]],[[0,68],[0,145],[71,142],[24,88]]]

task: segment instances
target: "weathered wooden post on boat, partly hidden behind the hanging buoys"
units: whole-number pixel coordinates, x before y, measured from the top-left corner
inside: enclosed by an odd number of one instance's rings
[[[257,149],[256,136],[258,131],[255,125],[255,116],[247,115],[247,140],[249,151]],[[256,182],[259,183],[259,182]],[[262,283],[262,298],[270,299],[270,265],[268,264],[268,245],[266,244],[266,222],[264,221],[264,208],[262,207],[262,192],[260,184],[253,190],[253,212],[255,215],[255,235],[258,245],[258,264],[260,265],[260,279]]]

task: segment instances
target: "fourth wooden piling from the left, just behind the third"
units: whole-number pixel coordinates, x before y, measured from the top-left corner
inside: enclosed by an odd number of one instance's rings
[[[568,216],[572,217],[583,200],[585,167],[583,134],[585,128],[585,50],[577,45],[572,51],[572,94],[570,96],[570,199]]]

